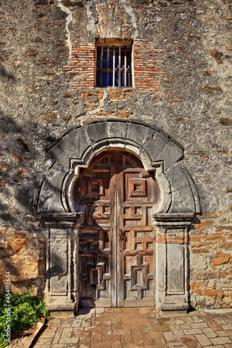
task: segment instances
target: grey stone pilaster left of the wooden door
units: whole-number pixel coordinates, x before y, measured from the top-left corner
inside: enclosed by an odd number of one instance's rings
[[[77,309],[77,222],[81,213],[42,214],[47,239],[47,308],[73,315]]]

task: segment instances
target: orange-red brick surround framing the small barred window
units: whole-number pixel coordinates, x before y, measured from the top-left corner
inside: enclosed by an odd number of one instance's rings
[[[148,40],[114,38],[98,38],[91,42],[83,40],[72,42],[72,56],[69,65],[65,67],[68,74],[71,74],[70,90],[107,88],[107,86],[97,86],[95,81],[96,47],[114,45],[116,47],[132,47],[130,87],[143,93],[157,92],[159,90],[157,76],[166,73],[160,71],[157,66],[157,54],[163,52],[163,49],[157,49],[154,43]],[[114,88],[120,87],[114,86]]]

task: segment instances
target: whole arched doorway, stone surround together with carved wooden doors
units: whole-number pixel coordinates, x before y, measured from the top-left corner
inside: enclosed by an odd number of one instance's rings
[[[48,153],[35,204],[47,239],[49,310],[76,312],[79,302],[146,306],[154,303],[154,290],[161,313],[186,310],[188,232],[201,209],[180,145],[144,122],[107,119],[80,125]]]

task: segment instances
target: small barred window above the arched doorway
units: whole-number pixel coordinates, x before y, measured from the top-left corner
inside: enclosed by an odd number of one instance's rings
[[[96,86],[130,87],[132,86],[132,44],[114,40],[97,42],[96,52]],[[105,44],[104,44],[105,43]],[[121,45],[117,45],[120,43]],[[122,45],[124,43],[124,45]],[[127,43],[127,45],[125,45]]]

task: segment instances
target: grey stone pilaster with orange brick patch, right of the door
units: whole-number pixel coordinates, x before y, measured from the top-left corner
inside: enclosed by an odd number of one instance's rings
[[[162,314],[189,308],[188,231],[194,214],[153,214],[156,307]]]

